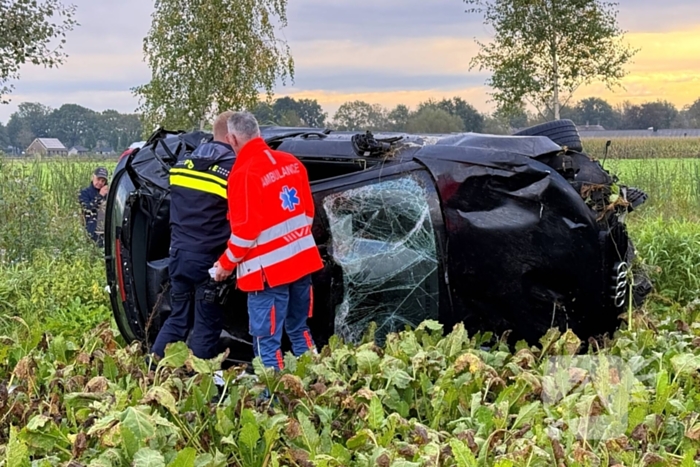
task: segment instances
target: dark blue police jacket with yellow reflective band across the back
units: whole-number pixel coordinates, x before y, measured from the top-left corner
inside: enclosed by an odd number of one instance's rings
[[[235,154],[204,143],[170,169],[170,247],[219,254],[231,235],[226,202]]]

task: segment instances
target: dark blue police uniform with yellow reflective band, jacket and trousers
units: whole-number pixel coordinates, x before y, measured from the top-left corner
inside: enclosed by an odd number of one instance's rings
[[[153,353],[188,340],[192,353],[213,358],[223,328],[220,305],[204,301],[209,268],[226,250],[228,176],[235,155],[224,143],[199,146],[170,170],[170,297],[172,313],[163,324]]]

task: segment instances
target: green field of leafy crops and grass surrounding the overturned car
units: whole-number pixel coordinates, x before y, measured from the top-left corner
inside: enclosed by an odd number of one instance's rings
[[[0,159],[0,466],[697,465],[700,160],[629,159],[605,165],[650,195],[629,225],[655,292],[584,360],[570,333],[511,351],[427,322],[262,384],[226,372],[223,397],[217,362],[178,345],[149,372],[114,330],[75,198],[94,161]]]

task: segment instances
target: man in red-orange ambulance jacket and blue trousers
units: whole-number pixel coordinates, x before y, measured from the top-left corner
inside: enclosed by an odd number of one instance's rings
[[[307,318],[313,311],[311,274],[323,261],[311,234],[311,187],[302,163],[272,150],[250,113],[229,117],[226,139],[237,154],[228,182],[231,238],[214,264],[214,279],[222,281],[236,268],[238,288],[249,292],[255,356],[282,369],[283,330],[294,355],[315,351]]]

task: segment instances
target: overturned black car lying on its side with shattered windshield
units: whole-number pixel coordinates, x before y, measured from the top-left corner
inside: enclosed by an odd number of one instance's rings
[[[625,216],[646,195],[583,152],[570,121],[520,135],[420,136],[263,127],[312,181],[316,342],[376,338],[426,319],[446,330],[509,332],[531,343],[550,328],[613,332],[649,292],[634,277]],[[116,322],[152,342],[169,306],[168,173],[211,135],[159,130],[124,156],[107,203],[105,254]],[[221,349],[249,361],[245,294],[228,300]]]

